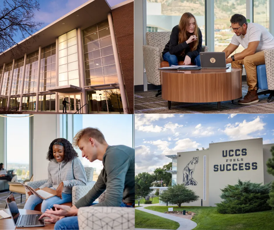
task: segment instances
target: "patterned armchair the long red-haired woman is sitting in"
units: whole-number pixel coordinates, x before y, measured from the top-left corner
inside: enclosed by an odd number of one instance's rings
[[[162,52],[168,43],[171,32],[147,32],[147,45],[143,46],[147,82],[161,85],[161,74],[158,70],[163,62]],[[208,52],[208,46],[202,46],[202,52]]]

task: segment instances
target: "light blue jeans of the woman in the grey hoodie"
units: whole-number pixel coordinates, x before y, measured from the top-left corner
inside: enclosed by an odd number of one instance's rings
[[[51,189],[56,190],[54,187],[51,187]],[[66,193],[62,193],[62,199],[58,196],[53,196],[46,200],[43,200],[36,195],[31,195],[29,196],[24,206],[24,209],[34,210],[36,205],[42,203],[41,212],[45,212],[47,209],[52,208],[54,204],[63,204],[71,201],[72,201],[72,194],[66,194]]]

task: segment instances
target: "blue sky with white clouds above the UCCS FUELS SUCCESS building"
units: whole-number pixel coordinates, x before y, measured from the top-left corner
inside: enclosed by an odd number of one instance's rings
[[[274,114],[135,114],[135,174],[171,162],[166,155],[211,142],[263,138],[274,143]]]

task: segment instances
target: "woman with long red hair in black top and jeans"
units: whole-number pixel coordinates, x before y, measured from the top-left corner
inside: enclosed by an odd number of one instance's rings
[[[202,50],[202,32],[197,25],[192,13],[184,13],[179,25],[173,27],[170,40],[163,51],[163,59],[169,66],[178,65],[178,61],[184,61],[184,65],[201,66],[200,52]]]

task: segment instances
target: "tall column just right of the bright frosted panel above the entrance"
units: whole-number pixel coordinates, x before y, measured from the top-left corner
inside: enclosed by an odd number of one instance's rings
[[[78,41],[78,52],[79,52],[79,67],[80,67],[80,80],[81,80],[81,85],[80,87],[82,88],[82,104],[87,103],[86,100],[86,90],[85,90],[85,68],[84,68],[84,52],[83,52],[83,39],[82,39],[82,30],[81,28],[77,28],[77,41]],[[75,105],[76,106],[76,105]],[[80,108],[79,108],[80,109]],[[87,106],[84,106],[83,108],[83,113],[87,114]]]

